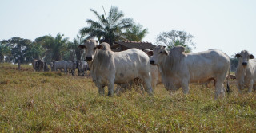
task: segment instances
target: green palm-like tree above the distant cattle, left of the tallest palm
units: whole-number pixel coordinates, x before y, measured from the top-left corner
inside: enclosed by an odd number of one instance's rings
[[[58,33],[56,37],[51,35],[39,37],[36,41],[42,44],[42,47],[46,49],[45,60],[46,61],[60,61],[66,53],[68,46],[68,38],[63,38],[64,34]]]

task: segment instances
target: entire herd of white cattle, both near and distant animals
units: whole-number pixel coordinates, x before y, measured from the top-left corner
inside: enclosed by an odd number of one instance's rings
[[[125,88],[136,79],[142,88],[152,95],[155,86],[162,82],[167,90],[176,91],[182,88],[184,94],[189,92],[190,83],[207,84],[214,80],[215,98],[225,96],[224,80],[227,79],[226,91],[229,92],[230,57],[218,49],[209,49],[200,53],[185,53],[182,46],[166,50],[158,45],[153,50],[128,49],[113,52],[110,45],[103,42],[86,40],[78,48],[85,49],[86,61],[54,61],[50,63],[52,71],[67,70],[74,75],[90,69],[92,80],[98,92],[104,95],[104,87],[108,87],[108,95],[114,94],[114,84]],[[248,51],[236,54],[238,68],[235,76],[238,92],[248,88],[248,92],[256,89],[256,60]],[[36,71],[49,71],[46,62],[34,61]],[[117,90],[118,90],[117,88]]]

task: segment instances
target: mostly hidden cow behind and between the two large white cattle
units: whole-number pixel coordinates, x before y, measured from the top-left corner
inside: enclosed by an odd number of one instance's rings
[[[143,52],[148,53],[150,51],[150,49],[145,49],[143,50]],[[148,54],[149,57],[151,57]],[[151,81],[151,86],[152,88],[156,88],[156,86],[158,84],[161,84],[161,74],[159,72],[158,66],[157,65],[151,65],[150,66],[150,71],[151,71],[151,77],[152,77],[152,81]]]

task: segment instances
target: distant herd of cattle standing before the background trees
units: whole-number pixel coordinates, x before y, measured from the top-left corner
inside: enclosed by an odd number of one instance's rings
[[[40,72],[48,72],[50,71],[64,71],[67,73],[69,71],[72,76],[74,76],[75,69],[78,69],[78,76],[84,76],[87,70],[89,70],[88,63],[86,61],[53,61],[50,62],[50,68],[48,67],[46,61],[42,60],[34,60],[32,62],[34,71]]]

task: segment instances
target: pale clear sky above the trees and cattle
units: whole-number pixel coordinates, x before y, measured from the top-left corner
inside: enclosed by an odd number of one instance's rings
[[[229,56],[246,49],[256,56],[255,0],[1,0],[0,40],[64,34],[73,41],[86,19],[97,20],[117,6],[125,18],[148,29],[143,41],[156,44],[162,32],[182,30],[194,36],[193,53],[221,49]]]

